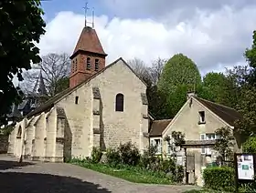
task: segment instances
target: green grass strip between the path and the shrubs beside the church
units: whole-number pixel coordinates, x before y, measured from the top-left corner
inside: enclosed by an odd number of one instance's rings
[[[172,184],[170,179],[166,178],[165,175],[143,170],[141,168],[121,167],[117,169],[103,164],[92,164],[87,162],[73,162],[72,164],[83,168],[89,168],[91,170],[98,171],[113,177],[123,178],[130,182],[144,184]]]

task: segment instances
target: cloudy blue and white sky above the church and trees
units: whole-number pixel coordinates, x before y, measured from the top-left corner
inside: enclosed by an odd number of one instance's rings
[[[87,19],[95,9],[95,29],[107,64],[122,56],[144,60],[182,53],[202,74],[244,65],[243,53],[256,29],[256,1],[252,0],[87,0]],[[46,34],[40,55],[71,54],[84,26],[85,0],[42,2]]]

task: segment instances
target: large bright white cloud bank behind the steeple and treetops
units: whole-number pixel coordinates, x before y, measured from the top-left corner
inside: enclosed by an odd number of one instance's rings
[[[175,19],[178,11],[161,20],[110,19],[101,15],[95,18],[95,28],[109,55],[107,63],[122,56],[126,60],[138,57],[150,65],[158,56],[170,58],[183,53],[194,60],[201,71],[219,71],[244,61],[242,54],[251,46],[255,29],[255,8],[256,5],[240,9],[229,5],[214,10],[197,8],[193,16],[182,21]],[[59,12],[48,21],[47,33],[38,45],[40,54],[71,54],[83,25],[83,15]]]

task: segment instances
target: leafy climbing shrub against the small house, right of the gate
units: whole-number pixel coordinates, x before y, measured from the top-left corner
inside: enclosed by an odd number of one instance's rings
[[[218,151],[221,160],[224,161],[231,157],[231,147],[234,146],[234,137],[231,128],[221,127],[215,131],[215,135],[218,137],[216,139],[214,150]]]

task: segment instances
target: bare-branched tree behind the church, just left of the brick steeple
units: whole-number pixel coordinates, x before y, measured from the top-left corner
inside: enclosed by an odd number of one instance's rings
[[[25,74],[26,87],[33,87],[42,70],[49,96],[55,96],[69,87],[70,61],[67,54],[48,54],[34,66],[34,71]]]

